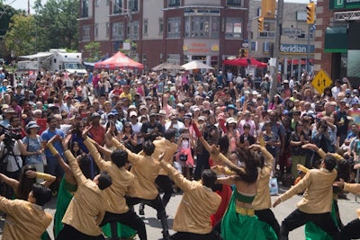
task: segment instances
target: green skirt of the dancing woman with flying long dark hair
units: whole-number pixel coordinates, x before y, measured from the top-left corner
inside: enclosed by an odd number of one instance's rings
[[[259,231],[259,229],[262,229],[262,224],[257,216],[244,216],[236,212],[235,194],[233,191],[229,207],[221,221],[221,236],[223,239],[266,240],[265,233]]]

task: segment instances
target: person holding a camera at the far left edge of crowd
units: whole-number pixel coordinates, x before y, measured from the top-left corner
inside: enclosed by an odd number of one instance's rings
[[[4,129],[4,140],[0,143],[0,172],[16,180],[23,167],[21,138],[20,118],[13,116],[10,118],[9,128]],[[14,197],[13,188],[6,185],[4,194],[7,199],[12,199]]]

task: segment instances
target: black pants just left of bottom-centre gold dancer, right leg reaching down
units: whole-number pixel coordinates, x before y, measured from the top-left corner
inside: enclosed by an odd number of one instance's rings
[[[157,197],[154,200],[143,200],[139,198],[126,198],[126,203],[128,204],[130,209],[133,209],[133,206],[138,203],[145,203],[146,205],[150,206],[153,209],[157,210],[157,219],[160,219],[161,226],[163,227],[163,236],[165,239],[168,239],[169,233],[168,233],[168,225],[167,225],[167,219],[166,219],[166,211],[163,205],[163,201],[160,199],[160,196],[157,195]]]

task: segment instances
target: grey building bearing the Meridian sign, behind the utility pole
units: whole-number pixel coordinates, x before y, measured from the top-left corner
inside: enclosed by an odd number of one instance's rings
[[[264,31],[258,31],[257,18],[260,13],[261,1],[251,1],[249,20],[253,32],[250,55],[266,62],[273,57],[276,20],[265,18]],[[280,70],[284,76],[301,76],[302,70],[307,67],[312,71],[315,31],[312,24],[306,23],[306,18],[306,4],[284,3],[283,32],[279,50]],[[310,62],[309,66],[307,59]]]

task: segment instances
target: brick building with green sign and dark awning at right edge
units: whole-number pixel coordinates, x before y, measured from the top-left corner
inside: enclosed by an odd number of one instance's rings
[[[315,72],[323,69],[333,82],[347,76],[353,86],[360,85],[359,20],[360,0],[318,0]]]

